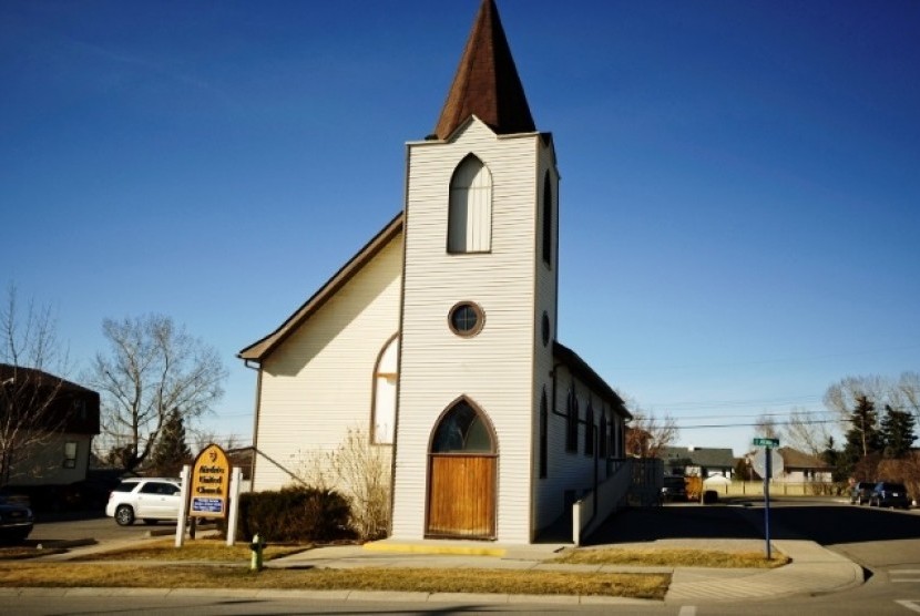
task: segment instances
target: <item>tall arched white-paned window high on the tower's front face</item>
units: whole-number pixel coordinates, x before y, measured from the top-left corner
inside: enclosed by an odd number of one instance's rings
[[[472,154],[463,158],[450,179],[447,249],[492,249],[492,174]]]

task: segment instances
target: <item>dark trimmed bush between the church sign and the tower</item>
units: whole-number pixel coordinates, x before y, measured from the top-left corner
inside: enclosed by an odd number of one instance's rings
[[[334,490],[297,486],[239,495],[239,531],[246,541],[331,542],[355,538],[348,501]]]

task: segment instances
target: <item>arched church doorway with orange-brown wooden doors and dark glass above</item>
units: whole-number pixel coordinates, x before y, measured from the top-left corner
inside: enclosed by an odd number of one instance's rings
[[[494,431],[461,398],[441,415],[431,437],[426,536],[495,538],[497,469]]]

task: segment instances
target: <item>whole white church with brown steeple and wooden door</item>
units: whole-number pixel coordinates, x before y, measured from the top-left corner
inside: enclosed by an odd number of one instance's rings
[[[387,460],[392,537],[531,543],[616,472],[631,415],[556,339],[554,142],[493,0],[406,178],[402,211],[238,353],[258,374],[253,490],[358,433]]]

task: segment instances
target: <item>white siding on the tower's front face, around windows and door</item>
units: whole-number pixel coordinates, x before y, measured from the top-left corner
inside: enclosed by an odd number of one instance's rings
[[[409,145],[406,266],[392,534],[423,534],[427,454],[439,414],[466,394],[498,434],[498,538],[530,541],[536,142],[497,137],[474,120],[449,143]],[[448,254],[448,198],[457,165],[474,154],[492,174],[492,248]],[[484,327],[451,332],[450,308],[477,302]]]

